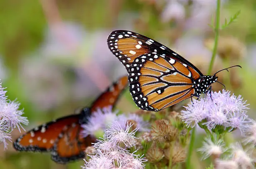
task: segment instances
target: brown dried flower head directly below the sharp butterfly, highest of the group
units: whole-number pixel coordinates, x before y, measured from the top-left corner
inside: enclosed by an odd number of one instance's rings
[[[151,135],[157,142],[172,142],[176,139],[178,130],[167,120],[156,120]]]

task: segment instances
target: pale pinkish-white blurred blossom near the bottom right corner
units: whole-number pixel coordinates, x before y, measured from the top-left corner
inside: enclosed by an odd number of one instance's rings
[[[230,145],[232,160],[237,162],[242,169],[252,168],[253,159],[251,158],[251,153],[254,147],[250,147],[247,150],[243,150],[241,144],[231,144]]]

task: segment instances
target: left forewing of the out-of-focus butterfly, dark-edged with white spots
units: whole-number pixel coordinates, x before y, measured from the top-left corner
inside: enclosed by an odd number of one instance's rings
[[[49,152],[62,130],[72,124],[79,124],[79,114],[62,117],[34,128],[16,139],[13,147],[18,151]]]

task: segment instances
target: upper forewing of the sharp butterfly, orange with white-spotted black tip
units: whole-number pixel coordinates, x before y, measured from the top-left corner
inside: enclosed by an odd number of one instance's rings
[[[177,60],[191,67],[194,75],[203,76],[192,63],[173,50],[146,36],[127,30],[114,30],[108,36],[108,48],[120,60],[127,70],[133,61],[141,55],[159,54]]]

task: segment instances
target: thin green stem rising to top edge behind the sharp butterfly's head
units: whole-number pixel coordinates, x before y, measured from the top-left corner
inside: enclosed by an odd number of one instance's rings
[[[214,30],[215,30],[215,42],[214,42],[214,48],[212,51],[212,59],[208,69],[208,75],[210,75],[212,72],[212,67],[213,67],[213,63],[214,63],[214,60],[217,54],[217,48],[218,48],[218,39],[219,39],[219,31],[220,31],[220,0],[217,0]]]

